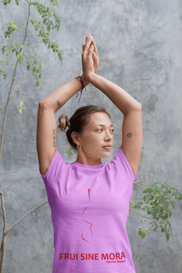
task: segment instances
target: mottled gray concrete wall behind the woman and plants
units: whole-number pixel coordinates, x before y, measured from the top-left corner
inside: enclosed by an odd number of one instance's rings
[[[0,9],[1,48],[11,41],[22,41],[24,30],[18,28],[10,38],[4,37],[6,23],[11,21],[25,27],[28,4],[13,0]],[[41,1],[53,7],[49,1]],[[47,200],[46,189],[39,174],[36,149],[38,103],[58,87],[82,75],[82,43],[88,33],[93,35],[99,54],[98,74],[126,90],[142,104],[143,147],[139,171],[135,181],[148,184],[165,182],[182,192],[181,185],[181,100],[182,100],[182,0],[68,0],[59,1],[53,7],[61,21],[60,30],[50,31],[51,40],[58,42],[63,64],[47,49],[41,37],[28,36],[42,63],[40,87],[37,89],[26,63],[17,68],[19,92],[13,91],[17,99],[10,100],[2,146],[0,163],[0,186],[4,192],[7,228],[30,209]],[[34,7],[31,6],[31,10]],[[37,11],[31,17],[41,20]],[[35,33],[29,24],[28,33]],[[15,63],[15,54],[10,61]],[[0,59],[6,56],[0,54]],[[5,67],[6,68],[6,67]],[[1,102],[6,105],[6,88],[13,76],[8,67],[8,78],[1,81]],[[9,87],[7,92],[9,91]],[[20,94],[20,92],[22,94]],[[79,92],[80,97],[80,92]],[[88,103],[108,105],[115,127],[111,156],[102,162],[110,162],[122,142],[123,114],[105,94],[93,85],[83,90],[80,103],[74,95],[58,112],[70,117],[80,106]],[[19,119],[17,104],[23,101]],[[4,106],[0,103],[0,128],[4,120]],[[65,133],[57,132],[57,148],[66,162],[72,161],[64,153],[68,148]],[[133,186],[132,200],[143,196],[139,186]],[[182,203],[175,200],[175,210],[169,221],[173,236],[166,242],[160,227],[150,230],[143,240],[137,229],[142,217],[132,212],[127,220],[127,233],[132,249],[136,273],[182,272]],[[144,215],[144,214],[143,214]],[[146,214],[145,214],[146,215]],[[0,209],[0,238],[3,218]],[[53,225],[49,204],[41,206],[28,215],[9,232],[4,264],[5,273],[50,273],[54,257]],[[129,273],[129,272],[128,272]]]

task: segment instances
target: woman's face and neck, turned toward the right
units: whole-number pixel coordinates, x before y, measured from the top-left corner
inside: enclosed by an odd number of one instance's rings
[[[73,138],[74,134],[72,134]],[[81,164],[98,165],[97,163],[102,163],[101,158],[109,158],[111,151],[103,148],[108,144],[111,144],[112,148],[113,145],[113,126],[108,115],[104,112],[91,114],[91,119],[84,127],[83,134],[78,137],[78,140],[74,142],[81,145],[81,153],[80,146],[77,147],[78,153],[80,153],[77,156],[77,159],[79,157],[79,163],[86,162]]]

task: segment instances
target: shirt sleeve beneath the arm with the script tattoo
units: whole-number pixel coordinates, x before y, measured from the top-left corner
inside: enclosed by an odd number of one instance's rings
[[[60,173],[60,170],[65,169],[67,167],[67,163],[65,162],[64,158],[59,153],[58,149],[56,149],[55,155],[50,162],[49,168],[47,170],[46,175],[41,175],[45,186],[47,187],[47,184],[55,177],[58,176]],[[39,170],[40,172],[40,170]]]

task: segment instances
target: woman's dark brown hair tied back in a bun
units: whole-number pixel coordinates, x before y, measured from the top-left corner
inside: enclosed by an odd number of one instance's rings
[[[102,105],[85,105],[78,108],[74,114],[68,118],[67,115],[62,114],[59,117],[59,125],[57,129],[61,129],[62,132],[66,132],[67,140],[71,146],[71,149],[76,151],[77,145],[74,143],[71,137],[72,132],[76,132],[77,136],[81,136],[85,125],[90,121],[91,114],[95,112],[104,112],[111,120],[111,115],[106,111],[106,108]],[[68,126],[68,130],[65,131]]]

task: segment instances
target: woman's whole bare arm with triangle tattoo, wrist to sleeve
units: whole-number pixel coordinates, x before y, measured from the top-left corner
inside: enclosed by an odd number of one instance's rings
[[[137,173],[142,152],[142,105],[117,84],[91,74],[89,82],[101,90],[123,113],[121,150],[128,159],[133,174]]]

